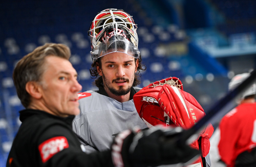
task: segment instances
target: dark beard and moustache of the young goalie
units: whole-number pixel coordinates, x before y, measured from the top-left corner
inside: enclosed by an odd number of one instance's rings
[[[135,74],[134,74],[135,76]],[[134,76],[133,76],[133,80],[134,80]],[[106,79],[104,73],[102,72],[102,78],[105,82],[105,85],[104,87],[108,88],[110,90],[110,92],[116,96],[123,96],[123,95],[126,95],[127,93],[129,93],[132,89],[132,86],[129,86],[127,89],[124,89],[123,86],[119,86],[118,89],[115,89],[114,87],[111,87],[111,82],[110,80]],[[115,81],[118,81],[118,80],[125,80],[127,83],[130,82],[129,79],[125,79],[124,77],[119,77],[119,78],[116,78],[116,79],[113,79],[112,80],[112,83],[115,82]]]

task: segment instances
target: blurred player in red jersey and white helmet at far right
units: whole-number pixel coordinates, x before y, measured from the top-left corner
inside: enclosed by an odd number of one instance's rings
[[[236,88],[250,73],[234,76],[229,90]],[[251,85],[238,99],[238,106],[221,120],[219,155],[228,167],[256,166],[256,86]]]

